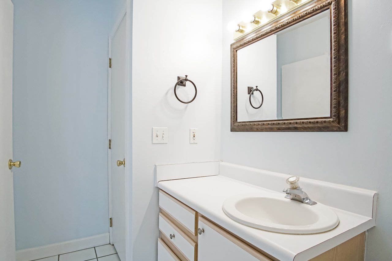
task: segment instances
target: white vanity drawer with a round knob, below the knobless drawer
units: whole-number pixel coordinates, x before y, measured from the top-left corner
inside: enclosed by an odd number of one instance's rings
[[[176,246],[189,261],[196,261],[197,244],[178,228],[169,218],[159,213],[159,230],[163,235],[171,238],[171,242]]]

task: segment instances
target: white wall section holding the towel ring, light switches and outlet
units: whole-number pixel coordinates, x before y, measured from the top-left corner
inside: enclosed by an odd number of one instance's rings
[[[157,258],[154,165],[220,159],[221,12],[221,0],[133,1],[133,260]],[[185,74],[198,87],[189,105],[173,93]],[[181,88],[193,96],[192,85]],[[169,143],[152,144],[152,127],[168,127]],[[198,144],[189,128],[199,129]]]

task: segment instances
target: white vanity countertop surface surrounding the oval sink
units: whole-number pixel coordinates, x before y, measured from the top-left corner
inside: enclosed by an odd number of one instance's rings
[[[310,235],[268,232],[233,221],[223,212],[222,205],[225,199],[236,194],[259,193],[263,196],[279,192],[221,175],[159,181],[158,187],[281,261],[309,260],[375,225],[375,219],[371,217],[332,208],[340,222],[338,227],[328,232]],[[283,192],[280,194],[285,196]]]

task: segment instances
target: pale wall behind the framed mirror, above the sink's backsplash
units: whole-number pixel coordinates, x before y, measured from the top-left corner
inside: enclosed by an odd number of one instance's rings
[[[223,2],[222,160],[379,191],[366,256],[390,260],[392,2],[348,0],[348,132],[230,132],[233,41],[226,26],[244,8],[257,11],[258,2]]]

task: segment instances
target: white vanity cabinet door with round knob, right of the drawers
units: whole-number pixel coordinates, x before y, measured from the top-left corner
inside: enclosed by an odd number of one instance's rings
[[[230,235],[214,223],[199,217],[198,261],[271,261],[268,257]]]

